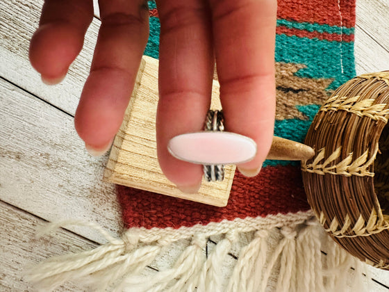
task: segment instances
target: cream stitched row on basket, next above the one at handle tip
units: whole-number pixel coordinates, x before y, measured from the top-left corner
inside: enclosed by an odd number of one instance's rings
[[[370,117],[372,120],[388,122],[389,109],[384,109],[387,104],[374,104],[375,99],[363,99],[357,102],[359,98],[359,96],[338,97],[336,95],[328,99],[320,111],[347,111],[359,117]]]

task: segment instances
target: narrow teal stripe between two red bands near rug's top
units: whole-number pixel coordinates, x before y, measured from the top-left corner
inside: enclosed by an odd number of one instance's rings
[[[305,31],[317,31],[319,33],[343,33],[345,35],[354,35],[354,27],[330,26],[328,24],[311,24],[310,22],[291,22],[286,19],[278,19],[277,26],[286,26],[289,29],[301,29]]]

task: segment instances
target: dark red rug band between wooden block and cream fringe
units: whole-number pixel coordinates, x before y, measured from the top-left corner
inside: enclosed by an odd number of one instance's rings
[[[229,204],[224,208],[208,206],[144,190],[117,186],[123,220],[129,227],[191,227],[198,223],[220,222],[295,213],[309,209],[298,167],[264,168],[255,179],[235,175]]]

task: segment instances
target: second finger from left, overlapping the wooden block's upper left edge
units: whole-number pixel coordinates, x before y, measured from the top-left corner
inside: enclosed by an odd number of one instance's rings
[[[101,27],[75,116],[92,154],[103,154],[122,124],[149,35],[144,1],[101,0],[99,6]]]

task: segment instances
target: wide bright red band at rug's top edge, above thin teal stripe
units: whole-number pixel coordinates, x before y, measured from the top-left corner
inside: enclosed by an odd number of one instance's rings
[[[279,0],[277,17],[296,22],[355,26],[355,1],[340,0]],[[341,16],[340,16],[341,15]]]

